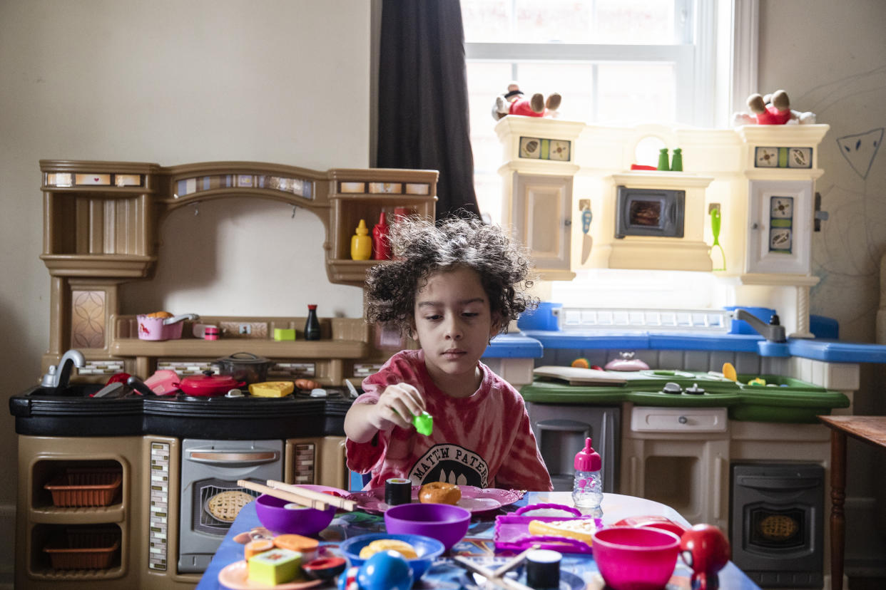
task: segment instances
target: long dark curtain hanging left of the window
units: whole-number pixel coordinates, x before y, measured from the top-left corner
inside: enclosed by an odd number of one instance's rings
[[[457,0],[385,0],[378,61],[379,168],[438,170],[437,218],[479,217]]]

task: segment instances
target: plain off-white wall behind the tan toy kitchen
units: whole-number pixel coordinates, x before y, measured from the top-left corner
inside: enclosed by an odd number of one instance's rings
[[[49,340],[38,160],[367,167],[369,22],[363,0],[0,2],[6,395],[36,383]],[[360,289],[326,280],[323,226],[313,214],[291,218],[291,208],[272,202],[221,203],[207,203],[198,218],[190,211],[167,218],[159,284],[128,286],[127,311],[169,305],[176,312],[300,315],[307,303],[321,303],[322,315],[359,317]],[[183,233],[194,227],[207,228],[208,240]],[[184,254],[173,251],[189,244]],[[258,253],[262,264],[245,262]],[[250,268],[274,272],[283,288],[245,289],[244,281],[261,278]],[[167,299],[179,281],[187,293]],[[0,446],[0,472],[14,474],[7,410],[0,411]],[[15,494],[14,476],[0,481],[0,576],[12,568],[13,536],[4,525],[12,526]]]

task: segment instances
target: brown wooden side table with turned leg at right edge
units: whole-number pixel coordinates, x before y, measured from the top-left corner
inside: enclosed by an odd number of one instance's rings
[[[819,419],[831,429],[831,588],[843,590],[846,435],[886,448],[886,416],[819,416]]]

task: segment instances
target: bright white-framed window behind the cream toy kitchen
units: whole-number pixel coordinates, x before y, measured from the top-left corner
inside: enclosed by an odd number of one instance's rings
[[[730,64],[756,64],[756,49],[741,53],[748,45],[741,27],[755,41],[756,3],[461,0],[480,211],[501,221],[501,145],[492,109],[510,80],[527,95],[559,92],[560,119],[725,127],[741,110],[730,104],[730,88],[742,102],[752,88],[736,86]],[[756,85],[749,69],[742,80]]]

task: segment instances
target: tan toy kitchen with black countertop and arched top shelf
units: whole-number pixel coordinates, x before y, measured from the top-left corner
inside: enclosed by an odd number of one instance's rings
[[[120,285],[152,277],[164,216],[232,196],[318,216],[330,282],[361,285],[378,261],[352,259],[354,228],[395,210],[433,218],[437,172],[71,160],[44,160],[41,172],[52,333],[42,385],[11,402],[16,587],[190,588],[237,514],[238,479],[348,487],[346,381],[359,387],[390,352],[361,318],[321,315],[319,339],[306,340],[306,317],[123,316]],[[203,372],[225,358],[301,387],[216,395],[246,388],[235,379],[184,395],[189,379],[221,377]],[[180,378],[177,395],[105,388],[115,374],[163,372]]]

